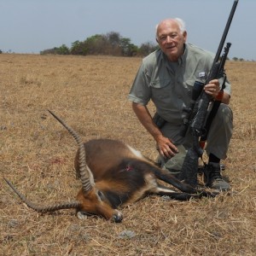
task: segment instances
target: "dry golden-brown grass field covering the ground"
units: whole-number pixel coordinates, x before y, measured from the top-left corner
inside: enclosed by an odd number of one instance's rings
[[[73,210],[38,214],[4,183],[38,203],[73,200],[73,138],[118,138],[154,159],[154,141],[126,96],[141,59],[0,55],[1,255],[255,255],[256,91],[253,62],[229,62],[235,132],[224,161],[232,195],[201,201],[151,196],[123,209],[124,220],[80,221]],[[153,110],[152,106],[150,109]],[[131,231],[130,233],[128,231]]]

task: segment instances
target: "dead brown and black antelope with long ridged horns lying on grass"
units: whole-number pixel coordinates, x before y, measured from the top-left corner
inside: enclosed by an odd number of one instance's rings
[[[75,208],[78,218],[84,218],[86,214],[94,214],[112,219],[114,222],[121,222],[123,217],[117,208],[138,201],[146,195],[168,195],[182,201],[191,197],[215,195],[180,182],[125,143],[110,139],[96,139],[82,143],[79,135],[72,128],[55,113],[51,111],[49,113],[66,127],[79,145],[74,165],[82,189],[79,190],[76,201],[41,207],[27,201],[26,197],[5,179],[20,199],[37,212]],[[157,179],[172,184],[182,192],[160,185]]]

